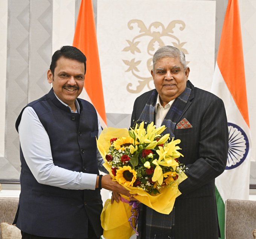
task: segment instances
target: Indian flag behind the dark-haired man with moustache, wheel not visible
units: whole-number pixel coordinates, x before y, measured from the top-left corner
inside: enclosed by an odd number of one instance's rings
[[[87,58],[84,81],[85,99],[96,108],[101,126],[104,128],[107,126],[107,119],[92,0],[81,0],[73,46],[81,50]]]

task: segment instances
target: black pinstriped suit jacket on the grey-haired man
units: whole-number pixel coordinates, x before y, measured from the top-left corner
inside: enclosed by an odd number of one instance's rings
[[[215,178],[226,167],[228,151],[226,112],[220,98],[190,82],[187,86],[191,88],[190,97],[176,124],[186,118],[192,128],[174,130],[184,155],[179,160],[189,168],[188,178],[179,185],[182,194],[174,205],[175,239],[215,239],[219,234]],[[135,100],[132,125],[151,93],[148,91]]]

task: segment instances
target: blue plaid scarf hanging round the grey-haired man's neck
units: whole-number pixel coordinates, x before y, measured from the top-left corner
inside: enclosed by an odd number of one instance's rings
[[[189,99],[191,89],[189,82],[185,90],[175,99],[171,108],[163,120],[162,125],[166,126],[162,135],[169,133],[170,137],[174,137],[174,129],[177,121],[180,119],[186,103]],[[154,90],[149,97],[140,117],[139,122],[152,122],[155,116],[155,104],[157,100],[157,91]],[[155,121],[154,121],[155,122]],[[160,239],[170,238],[174,239],[174,213],[175,207],[169,215],[158,213],[155,210],[140,204],[138,231],[139,236],[137,239]]]

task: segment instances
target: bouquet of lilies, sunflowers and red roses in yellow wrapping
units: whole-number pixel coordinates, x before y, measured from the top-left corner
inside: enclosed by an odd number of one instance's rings
[[[144,122],[130,130],[108,127],[102,131],[97,145],[113,180],[130,190],[140,203],[169,214],[175,198],[181,194],[178,184],[186,175],[185,166],[177,160],[183,156],[177,146],[180,140],[170,140],[169,134],[162,136],[165,129],[165,126],[156,128],[153,122],[146,129]],[[125,196],[121,201],[110,204],[107,200],[104,205],[101,220],[106,239],[130,238],[136,227],[137,204],[128,204]],[[122,219],[115,221],[116,213]]]

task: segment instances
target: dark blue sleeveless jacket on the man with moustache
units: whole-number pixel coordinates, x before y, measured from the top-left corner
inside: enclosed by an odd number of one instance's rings
[[[35,110],[49,135],[55,165],[99,175],[96,160],[98,116],[92,104],[82,99],[78,99],[78,102],[80,114],[71,113],[51,89],[48,94],[27,106]],[[16,129],[23,110],[16,121]],[[38,236],[80,239],[87,238],[90,220],[96,235],[102,235],[99,189],[72,190],[40,184],[27,166],[21,149],[20,159],[18,228]]]

